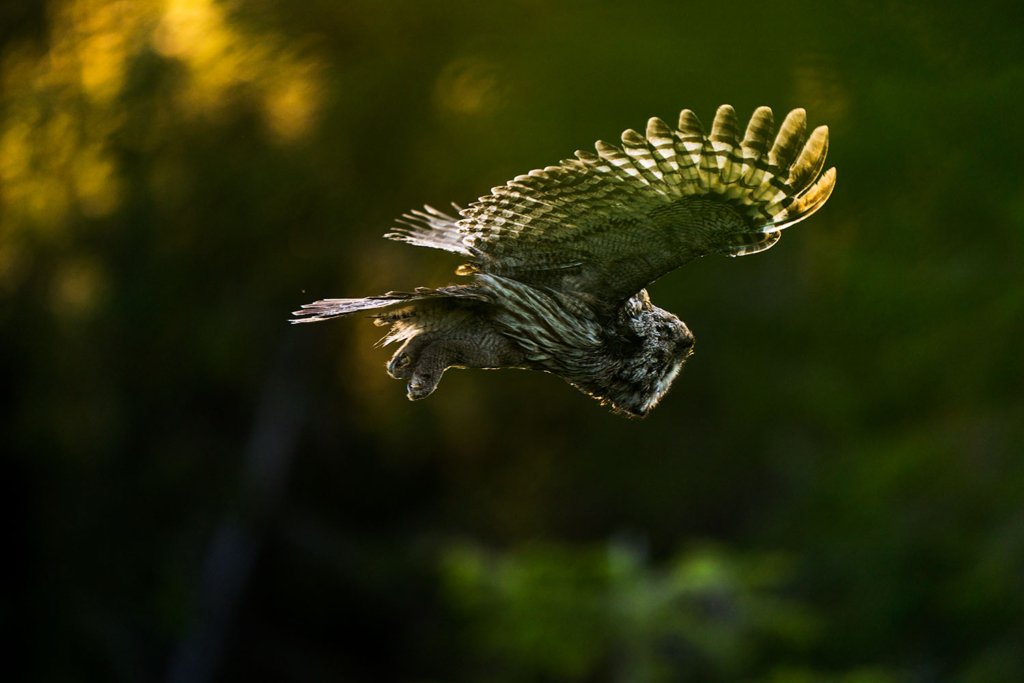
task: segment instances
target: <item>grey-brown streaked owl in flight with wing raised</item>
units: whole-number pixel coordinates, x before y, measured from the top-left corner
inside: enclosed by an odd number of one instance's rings
[[[362,310],[402,342],[387,366],[409,380],[409,398],[429,396],[449,368],[521,368],[558,375],[617,413],[643,417],[669,390],[693,335],[654,306],[644,289],[700,256],[744,256],[828,199],[822,173],[828,129],[807,135],[802,109],[772,139],[759,108],[740,137],[731,106],[711,135],[689,110],[679,127],[647,122],[646,135],[597,154],[516,176],[459,210],[406,214],[385,237],[468,258],[463,285],[325,299],[295,311],[313,323]]]

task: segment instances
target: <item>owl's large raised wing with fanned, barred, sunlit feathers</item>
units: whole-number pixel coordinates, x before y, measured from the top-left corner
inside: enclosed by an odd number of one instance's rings
[[[804,110],[774,141],[772,112],[758,109],[742,138],[735,112],[719,108],[707,135],[686,110],[679,127],[650,119],[623,146],[520,175],[460,213],[417,216],[417,232],[392,239],[465,253],[462,272],[483,271],[616,305],[660,275],[706,254],[768,249],[784,227],[828,199],[836,169],[821,172],[828,129],[807,136]],[[431,240],[431,222],[438,234]],[[455,229],[458,239],[455,239]],[[418,241],[418,242],[417,242]]]

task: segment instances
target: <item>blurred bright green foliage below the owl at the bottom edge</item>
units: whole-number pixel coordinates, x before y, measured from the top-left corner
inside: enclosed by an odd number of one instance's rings
[[[776,594],[785,562],[697,548],[652,568],[622,541],[606,549],[536,547],[490,557],[451,550],[443,575],[492,669],[478,680],[736,680],[759,649],[805,650],[804,606]]]

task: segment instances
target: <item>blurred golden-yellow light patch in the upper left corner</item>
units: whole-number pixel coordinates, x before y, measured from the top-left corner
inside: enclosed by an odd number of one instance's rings
[[[321,61],[305,42],[238,26],[216,0],[56,0],[49,9],[46,40],[7,46],[0,63],[0,250],[8,255],[12,244],[36,242],[19,233],[65,240],[82,218],[118,211],[126,126],[134,126],[136,148],[158,155],[145,142],[154,134],[196,118],[216,125],[231,108],[255,108],[274,143],[313,131]],[[173,72],[183,78],[162,83],[170,106],[124,96],[135,61],[154,52],[184,68]],[[62,285],[54,291],[74,299]]]

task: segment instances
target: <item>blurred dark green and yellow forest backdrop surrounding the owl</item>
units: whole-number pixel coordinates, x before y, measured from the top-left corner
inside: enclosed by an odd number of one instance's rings
[[[0,6],[9,666],[45,681],[1024,680],[1013,2]],[[804,106],[837,190],[651,288],[644,421],[411,403],[381,239],[689,108]],[[16,677],[15,677],[16,678]],[[12,679],[14,680],[14,679]]]

